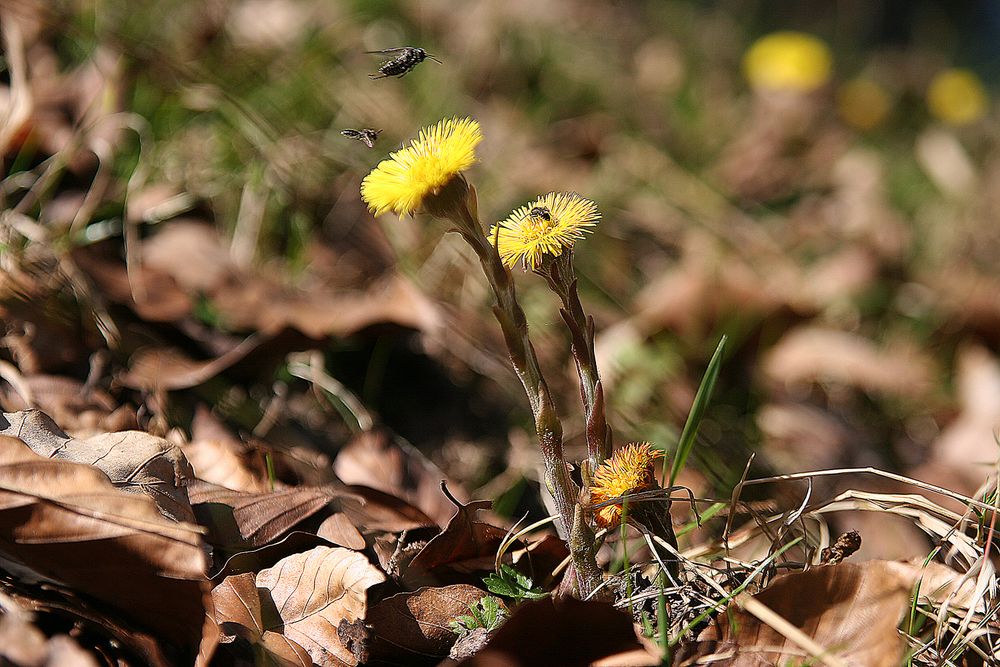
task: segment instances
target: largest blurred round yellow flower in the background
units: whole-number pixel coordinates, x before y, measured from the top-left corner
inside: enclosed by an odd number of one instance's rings
[[[819,38],[783,31],[754,42],[743,57],[743,71],[756,89],[806,93],[829,80],[832,62]]]

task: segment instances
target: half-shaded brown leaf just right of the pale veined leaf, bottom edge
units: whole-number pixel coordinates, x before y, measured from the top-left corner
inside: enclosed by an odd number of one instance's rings
[[[436,663],[458,639],[448,622],[468,614],[484,595],[475,586],[456,584],[388,597],[368,610],[364,657],[357,649],[354,653],[363,662]]]

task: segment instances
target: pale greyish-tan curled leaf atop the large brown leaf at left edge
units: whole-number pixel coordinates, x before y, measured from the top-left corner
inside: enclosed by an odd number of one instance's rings
[[[77,440],[39,410],[3,413],[0,435],[19,438],[46,458],[94,466],[122,491],[152,498],[164,516],[194,523],[186,488],[193,471],[180,448],[163,438],[121,431]]]

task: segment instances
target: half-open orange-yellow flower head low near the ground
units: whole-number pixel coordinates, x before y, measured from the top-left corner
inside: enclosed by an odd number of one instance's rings
[[[653,461],[663,456],[648,442],[633,442],[615,452],[594,473],[590,487],[590,502],[594,505],[620,496],[656,487]],[[621,505],[608,505],[597,511],[594,518],[602,528],[612,528],[621,521]]]

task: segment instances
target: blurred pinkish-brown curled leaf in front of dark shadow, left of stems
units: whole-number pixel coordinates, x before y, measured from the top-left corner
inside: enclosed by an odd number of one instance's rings
[[[420,450],[386,431],[367,431],[347,443],[333,462],[345,484],[362,484],[399,496],[445,525],[455,506],[441,493],[446,475]],[[449,488],[453,488],[451,482]],[[463,494],[458,491],[459,497]]]

